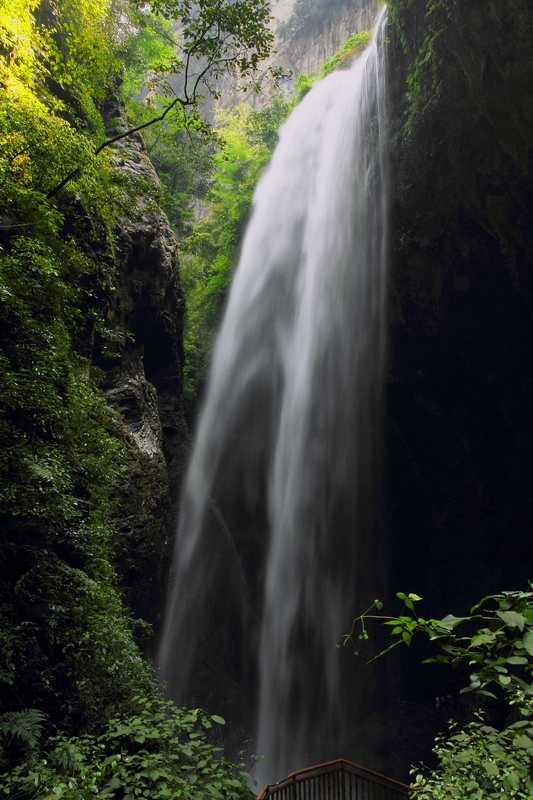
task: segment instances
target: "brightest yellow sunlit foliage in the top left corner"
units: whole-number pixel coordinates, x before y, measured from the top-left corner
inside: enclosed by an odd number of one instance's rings
[[[2,89],[19,101],[38,98],[77,128],[101,137],[99,109],[116,85],[120,51],[133,33],[130,20],[129,5],[120,0],[5,0]]]

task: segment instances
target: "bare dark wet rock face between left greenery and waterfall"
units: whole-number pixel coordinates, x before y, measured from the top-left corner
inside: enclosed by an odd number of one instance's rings
[[[115,150],[116,165],[157,184],[142,139]],[[156,630],[164,611],[187,446],[182,403],[184,299],[177,243],[168,220],[146,195],[124,218],[107,326],[105,393],[119,412],[126,445],[120,510],[115,521],[118,569],[128,605]],[[110,356],[110,357],[109,357]]]

